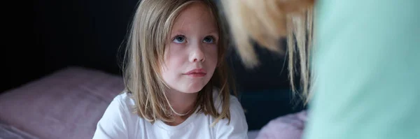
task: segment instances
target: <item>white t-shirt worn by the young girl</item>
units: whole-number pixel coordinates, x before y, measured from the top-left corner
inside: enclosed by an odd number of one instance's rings
[[[214,94],[217,94],[216,92]],[[221,99],[214,95],[216,110],[221,110]],[[248,138],[248,124],[244,110],[235,96],[230,96],[230,124],[221,119],[195,112],[177,126],[169,126],[157,120],[154,124],[133,112],[134,100],[124,93],[111,101],[97,123],[94,139],[244,139]]]

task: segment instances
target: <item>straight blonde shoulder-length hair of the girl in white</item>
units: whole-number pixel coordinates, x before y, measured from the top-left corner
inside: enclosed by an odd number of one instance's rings
[[[165,45],[174,20],[184,8],[195,2],[208,6],[217,22],[220,38],[216,71],[209,83],[198,92],[193,110],[216,117],[214,124],[224,118],[230,121],[230,92],[236,92],[225,62],[227,45],[216,4],[210,0],[143,0],[139,3],[132,21],[124,60],[127,64],[124,65],[123,75],[126,92],[132,94],[135,101],[135,112],[149,122],[153,123],[157,119],[173,122],[175,115],[165,93],[168,86],[162,80],[160,69],[165,64]],[[220,113],[214,105],[214,87],[219,89],[218,97],[221,98],[222,104]]]

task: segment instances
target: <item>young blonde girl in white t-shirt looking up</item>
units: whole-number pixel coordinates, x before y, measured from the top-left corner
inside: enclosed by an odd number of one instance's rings
[[[126,92],[93,138],[247,138],[230,95],[225,36],[210,0],[144,0],[127,47]]]

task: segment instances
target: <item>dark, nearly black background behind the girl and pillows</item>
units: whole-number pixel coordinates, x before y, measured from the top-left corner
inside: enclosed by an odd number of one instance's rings
[[[11,26],[6,26],[11,35],[3,38],[10,45],[3,46],[6,72],[2,76],[6,83],[1,85],[1,92],[66,66],[84,66],[120,75],[118,49],[125,41],[137,3],[134,0],[35,0],[29,8],[13,10],[17,15],[11,15]],[[285,56],[257,50],[262,63],[258,68],[244,68],[235,51],[229,57],[239,92],[244,94],[241,103],[248,109],[250,129],[259,129],[269,119],[302,109],[290,103]]]

